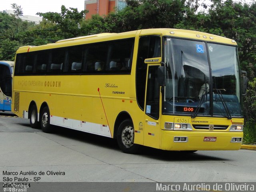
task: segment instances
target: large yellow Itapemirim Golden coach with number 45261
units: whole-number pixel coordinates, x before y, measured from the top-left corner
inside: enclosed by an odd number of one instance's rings
[[[146,29],[17,50],[12,111],[51,125],[116,138],[123,152],[239,150],[241,71],[234,40]],[[100,137],[99,137],[100,139]]]

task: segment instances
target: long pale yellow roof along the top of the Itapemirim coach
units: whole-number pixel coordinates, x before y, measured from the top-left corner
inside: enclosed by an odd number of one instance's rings
[[[183,30],[183,29],[157,28],[157,29],[136,30],[136,31],[130,31],[130,32],[123,32],[123,33],[101,33],[101,34],[59,40],[55,43],[50,43],[42,46],[23,46],[17,50],[17,53],[60,48],[60,47],[66,47],[66,46],[74,46],[74,45],[87,44],[87,43],[103,42],[108,40],[132,38],[132,37],[135,37],[136,34],[140,34],[141,36],[155,34],[155,35],[170,36],[170,37],[176,37],[176,38],[187,38],[187,39],[201,40],[201,41],[207,41],[207,42],[216,42],[221,44],[230,44],[233,46],[237,45],[234,40],[231,40],[222,36],[204,33],[204,32]]]

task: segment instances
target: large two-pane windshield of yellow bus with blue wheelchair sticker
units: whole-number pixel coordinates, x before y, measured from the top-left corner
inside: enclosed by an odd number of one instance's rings
[[[166,38],[164,52],[164,113],[242,116],[236,47]]]

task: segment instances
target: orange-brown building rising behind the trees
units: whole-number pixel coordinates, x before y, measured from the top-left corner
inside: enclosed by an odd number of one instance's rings
[[[99,14],[100,16],[107,15],[115,10],[122,10],[126,7],[125,0],[85,0],[84,9],[89,12],[86,14],[86,19],[92,18],[92,15]]]

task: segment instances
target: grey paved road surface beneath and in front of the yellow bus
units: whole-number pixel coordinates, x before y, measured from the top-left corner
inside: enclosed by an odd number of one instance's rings
[[[60,127],[47,134],[0,112],[0,182],[7,172],[29,182],[256,182],[255,160],[255,150],[182,154],[144,147],[124,154],[110,138]]]

